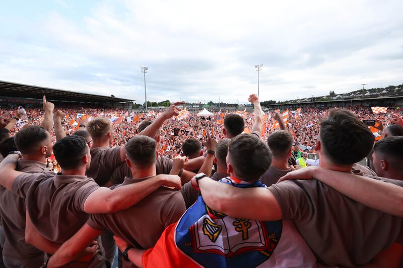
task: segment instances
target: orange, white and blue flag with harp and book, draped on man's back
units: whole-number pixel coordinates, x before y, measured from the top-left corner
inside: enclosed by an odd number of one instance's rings
[[[234,177],[222,178],[220,183],[265,187],[260,181],[247,183]],[[296,259],[296,254],[306,258]],[[155,246],[145,251],[142,262],[146,268],[301,267],[314,266],[316,259],[292,222],[232,218],[210,209],[199,196],[177,223],[165,229]]]

